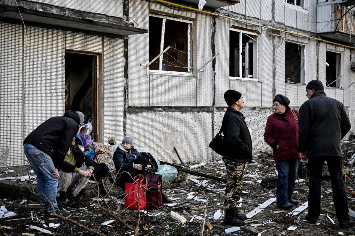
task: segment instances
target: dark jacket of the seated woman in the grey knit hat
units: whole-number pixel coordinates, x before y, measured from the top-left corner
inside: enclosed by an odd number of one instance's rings
[[[138,156],[141,154],[135,148],[129,151],[125,150],[121,144],[118,145],[113,154],[113,162],[115,163],[116,172],[134,171],[134,163],[137,161]]]

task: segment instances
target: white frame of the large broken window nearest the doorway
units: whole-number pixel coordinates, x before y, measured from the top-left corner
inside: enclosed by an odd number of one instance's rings
[[[181,72],[181,71],[171,71],[171,70],[162,70],[163,67],[163,54],[159,57],[159,70],[151,70],[149,69],[149,74],[158,74],[158,75],[178,75],[178,76],[193,76],[193,65],[192,65],[192,58],[191,58],[191,47],[192,47],[192,32],[191,29],[193,27],[193,21],[189,21],[186,19],[180,19],[180,18],[174,18],[174,17],[169,17],[169,16],[163,16],[163,15],[156,15],[153,13],[149,13],[149,16],[151,17],[157,17],[157,18],[163,18],[163,23],[162,23],[162,30],[161,30],[161,35],[160,35],[160,50],[159,53],[164,51],[164,36],[165,36],[165,22],[166,20],[172,20],[172,21],[179,21],[179,22],[184,22],[189,25],[187,28],[187,71],[188,72]],[[148,45],[149,46],[149,45]]]

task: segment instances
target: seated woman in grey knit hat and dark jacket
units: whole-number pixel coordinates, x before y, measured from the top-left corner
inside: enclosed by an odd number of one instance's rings
[[[133,138],[131,137],[125,137],[122,144],[118,145],[113,155],[113,161],[116,167],[116,176],[120,176],[116,183],[122,189],[125,189],[125,183],[133,183],[135,176],[138,174],[144,175],[148,168],[152,167],[146,157],[134,148]],[[130,173],[131,176],[124,171]],[[162,191],[162,194],[163,203],[173,203],[164,191]]]

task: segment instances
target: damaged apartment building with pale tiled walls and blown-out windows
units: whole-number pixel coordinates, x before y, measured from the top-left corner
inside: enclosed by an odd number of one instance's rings
[[[313,79],[354,128],[352,1],[206,2],[0,0],[0,165],[26,165],[23,139],[66,109],[85,114],[95,142],[218,158],[208,144],[228,89],[244,96],[258,152],[275,94],[299,109]]]

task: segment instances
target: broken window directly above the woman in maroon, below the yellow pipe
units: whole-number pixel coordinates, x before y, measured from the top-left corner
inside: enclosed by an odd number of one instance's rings
[[[305,46],[286,42],[285,83],[305,84]]]

